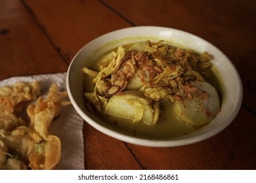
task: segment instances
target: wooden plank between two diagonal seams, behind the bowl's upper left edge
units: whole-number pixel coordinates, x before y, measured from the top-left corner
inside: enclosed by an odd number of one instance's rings
[[[24,1],[40,27],[63,58],[70,63],[75,54],[96,37],[130,27],[98,1]]]

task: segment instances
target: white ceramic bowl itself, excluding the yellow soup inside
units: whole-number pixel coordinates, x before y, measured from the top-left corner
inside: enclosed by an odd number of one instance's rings
[[[83,73],[81,72],[81,67],[91,65],[89,61],[85,62],[85,60],[103,54],[112,48],[117,48],[117,46],[122,44],[146,41],[147,39],[150,39],[151,41],[166,40],[173,42],[173,44],[176,44],[177,46],[192,48],[198,52],[207,51],[213,55],[214,60],[212,63],[219,71],[226,95],[224,96],[225,99],[221,107],[221,112],[212,122],[202,129],[190,133],[189,135],[173,139],[140,139],[138,137],[124,135],[123,133],[114,131],[85,108],[83,97]],[[216,135],[228,126],[238,114],[242,104],[242,83],[240,76],[232,62],[223,54],[223,52],[200,37],[167,27],[130,27],[119,29],[96,38],[81,48],[75,55],[68,68],[66,83],[68,95],[75,110],[77,110],[87,123],[106,135],[110,135],[121,141],[142,146],[182,146],[203,141],[204,139]]]

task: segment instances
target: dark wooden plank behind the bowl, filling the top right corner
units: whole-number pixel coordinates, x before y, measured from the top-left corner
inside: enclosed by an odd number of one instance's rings
[[[255,1],[104,0],[104,3],[134,25],[181,29],[217,46],[238,70],[244,105],[256,114]]]

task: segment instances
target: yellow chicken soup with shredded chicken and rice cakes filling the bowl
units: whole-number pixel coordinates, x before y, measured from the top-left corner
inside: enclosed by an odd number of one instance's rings
[[[87,107],[128,135],[192,133],[220,112],[223,92],[211,59],[163,41],[119,46],[82,68]]]

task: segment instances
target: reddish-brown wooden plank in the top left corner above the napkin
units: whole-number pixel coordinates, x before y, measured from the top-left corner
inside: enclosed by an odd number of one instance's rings
[[[0,32],[0,80],[68,69],[20,1],[0,1]]]

